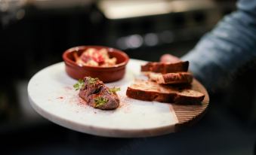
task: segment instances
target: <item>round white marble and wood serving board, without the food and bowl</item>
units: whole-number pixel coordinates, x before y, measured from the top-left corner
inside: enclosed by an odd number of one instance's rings
[[[66,74],[60,62],[35,74],[28,85],[32,107],[48,120],[92,135],[109,137],[147,137],[176,132],[198,120],[208,107],[208,93],[202,84],[193,81],[193,90],[205,94],[200,105],[174,105],[130,99],[126,89],[135,78],[146,78],[140,73],[144,61],[130,59],[125,77],[109,87],[120,87],[120,106],[113,111],[102,111],[88,106],[79,91],[72,88],[76,80]]]

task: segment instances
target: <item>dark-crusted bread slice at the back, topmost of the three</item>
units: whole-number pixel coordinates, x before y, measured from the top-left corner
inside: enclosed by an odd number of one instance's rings
[[[180,71],[187,71],[189,62],[147,62],[145,65],[141,65],[141,71],[152,71],[156,73],[174,73]]]

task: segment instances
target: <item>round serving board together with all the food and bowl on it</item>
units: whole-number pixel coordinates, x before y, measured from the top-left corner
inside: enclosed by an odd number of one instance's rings
[[[72,47],[63,60],[35,74],[28,92],[35,111],[69,129],[163,135],[196,123],[208,108],[208,93],[187,61],[146,62],[102,46]]]

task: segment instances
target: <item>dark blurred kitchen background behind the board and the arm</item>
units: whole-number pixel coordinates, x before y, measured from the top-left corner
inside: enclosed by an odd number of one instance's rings
[[[1,154],[254,154],[255,68],[211,94],[195,126],[154,138],[65,129],[36,114],[26,92],[32,75],[61,62],[69,47],[105,45],[148,61],[163,53],[183,56],[235,10],[233,0],[0,0]]]

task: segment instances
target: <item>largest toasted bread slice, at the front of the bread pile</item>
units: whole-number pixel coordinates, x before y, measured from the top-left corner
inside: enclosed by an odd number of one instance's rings
[[[126,96],[143,101],[157,101],[177,104],[196,104],[205,95],[189,88],[178,88],[156,84],[153,81],[136,80],[128,87]]]

